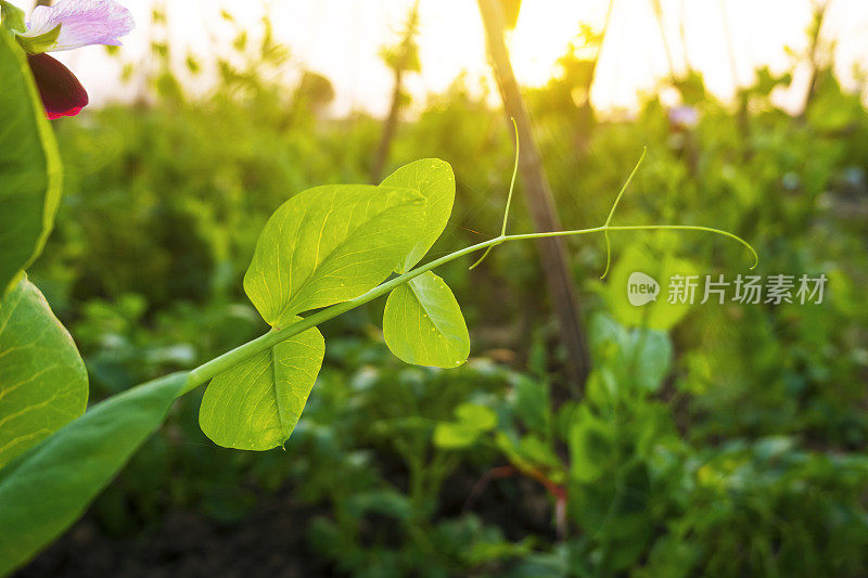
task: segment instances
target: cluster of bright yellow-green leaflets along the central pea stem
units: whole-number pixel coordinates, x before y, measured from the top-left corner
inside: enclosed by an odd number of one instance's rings
[[[244,290],[272,327],[360,297],[424,257],[446,227],[454,201],[452,170],[437,159],[407,165],[379,187],[304,191],[269,219]],[[393,290],[383,333],[390,349],[408,363],[454,368],[470,352],[461,309],[431,272]],[[322,335],[312,327],[217,375],[202,400],[202,431],[230,448],[282,445],[298,422],[324,352]]]

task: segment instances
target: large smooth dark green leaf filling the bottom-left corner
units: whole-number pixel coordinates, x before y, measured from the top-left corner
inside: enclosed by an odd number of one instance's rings
[[[187,373],[91,408],[0,471],[0,575],[68,528],[163,423]]]

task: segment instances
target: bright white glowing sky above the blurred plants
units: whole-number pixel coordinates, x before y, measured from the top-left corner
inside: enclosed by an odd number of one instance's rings
[[[122,69],[124,63],[146,66],[150,13],[157,1],[120,0],[138,26],[125,39],[119,60],[99,47],[61,55],[88,87],[95,105],[136,92],[137,79],[122,82]],[[613,1],[591,100],[600,110],[629,110],[639,94],[653,90],[668,74],[669,65],[652,0]],[[791,62],[788,47],[805,50],[813,1],[661,0],[672,60],[676,68],[689,60],[709,88],[727,99],[736,86],[750,84],[756,66],[767,64],[782,72]],[[412,0],[171,0],[164,5],[179,59],[189,50],[205,62],[230,50],[234,30],[220,16],[221,10],[233,14],[252,38],[261,34],[261,17],[268,14],[276,37],[290,49],[288,81],[302,68],[326,75],[335,88],[331,113],[341,116],[358,108],[385,114],[393,80],[379,51],[398,39]],[[519,81],[540,86],[557,74],[557,60],[567,51],[579,24],[601,29],[608,7],[608,0],[524,0],[510,38]],[[855,86],[854,65],[868,69],[868,1],[832,0],[824,36],[837,43],[842,81]],[[462,72],[471,87],[480,78],[494,87],[474,0],[421,0],[418,42],[422,74],[412,75],[407,85],[416,102],[446,90]],[[779,104],[797,110],[806,84],[806,70],[796,70],[792,90],[778,94]]]

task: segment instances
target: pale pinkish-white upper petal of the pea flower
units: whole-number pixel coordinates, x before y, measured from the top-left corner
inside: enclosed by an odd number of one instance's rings
[[[129,10],[114,0],[60,0],[53,7],[37,7],[27,31],[37,38],[60,26],[56,41],[48,51],[73,50],[89,44],[120,46],[120,37],[132,30]]]

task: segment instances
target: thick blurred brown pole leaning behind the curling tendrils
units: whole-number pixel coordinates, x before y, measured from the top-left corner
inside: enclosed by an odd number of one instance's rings
[[[538,231],[561,229],[551,189],[544,172],[539,150],[534,140],[531,119],[522,100],[509,51],[503,40],[503,15],[500,0],[478,0],[480,12],[488,39],[488,52],[497,78],[503,107],[508,116],[515,119],[521,140],[519,169],[524,183],[525,202]],[[567,354],[567,378],[571,389],[578,394],[584,386],[590,367],[582,311],[575,286],[569,270],[564,242],[560,237],[541,239],[537,248],[542,265],[551,306],[558,319],[561,339]]]

